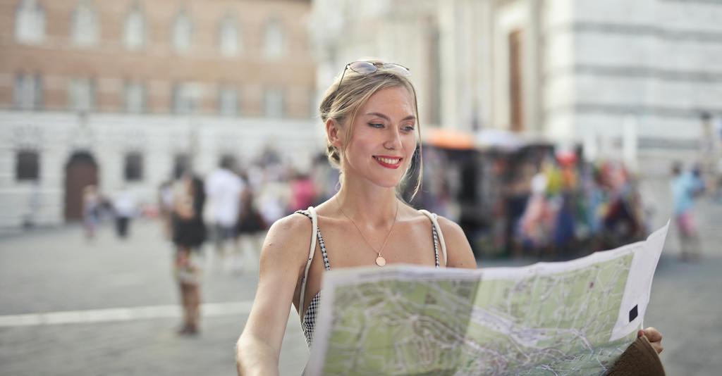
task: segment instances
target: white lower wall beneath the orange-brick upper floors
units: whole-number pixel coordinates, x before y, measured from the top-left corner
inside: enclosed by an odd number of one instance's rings
[[[156,189],[170,177],[175,154],[188,152],[193,144],[194,170],[200,175],[216,167],[223,154],[247,162],[267,144],[303,170],[325,145],[321,126],[314,121],[264,118],[92,114],[80,121],[72,113],[0,111],[0,132],[13,135],[0,141],[0,228],[19,227],[33,200],[39,209],[36,224],[64,222],[65,168],[77,151],[95,158],[101,191],[113,193],[128,185],[139,202],[155,203]],[[196,141],[191,141],[193,134]],[[15,153],[22,147],[40,152],[37,185],[16,180]],[[124,156],[134,150],[143,154],[143,180],[126,183]]]

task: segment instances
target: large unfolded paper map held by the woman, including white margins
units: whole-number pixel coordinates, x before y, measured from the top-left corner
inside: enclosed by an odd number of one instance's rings
[[[669,223],[584,258],[323,276],[307,375],[604,375],[643,327]]]

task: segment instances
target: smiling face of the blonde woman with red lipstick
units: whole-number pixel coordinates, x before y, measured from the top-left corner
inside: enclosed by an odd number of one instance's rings
[[[404,87],[379,90],[356,115],[342,161],[344,173],[387,188],[399,185],[416,149],[416,127],[409,91]]]

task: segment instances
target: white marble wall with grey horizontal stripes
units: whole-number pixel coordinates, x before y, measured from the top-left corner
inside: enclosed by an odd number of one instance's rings
[[[604,149],[619,146],[625,124],[633,123],[640,158],[648,152],[645,140],[666,140],[679,145],[679,156],[693,155],[688,149],[701,136],[700,113],[722,114],[722,3],[547,4],[571,11],[565,18],[550,9],[545,18],[547,135],[588,145],[597,140]],[[562,19],[552,22],[554,18]],[[571,61],[558,58],[569,53]],[[618,149],[602,152],[616,154]]]

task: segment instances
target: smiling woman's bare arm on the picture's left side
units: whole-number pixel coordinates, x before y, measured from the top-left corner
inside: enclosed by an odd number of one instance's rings
[[[238,375],[278,375],[278,359],[310,242],[310,221],[300,215],[279,219],[261,250],[256,299],[238,338]]]

